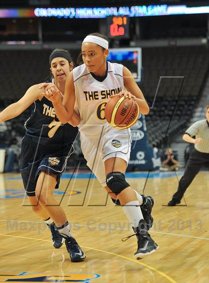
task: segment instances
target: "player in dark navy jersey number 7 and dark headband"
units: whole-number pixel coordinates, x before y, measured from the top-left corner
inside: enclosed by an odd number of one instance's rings
[[[53,90],[62,95],[74,63],[64,49],[55,49],[49,63]],[[43,89],[40,85],[30,87],[17,102],[1,111],[0,122],[18,116],[34,103],[33,112],[25,122],[26,132],[21,145],[20,172],[24,188],[32,210],[49,226],[54,247],[60,248],[65,238],[71,261],[79,262],[85,259],[85,253],[73,238],[66,214],[53,197],[53,191],[58,189],[67,159],[74,152],[73,142],[78,134],[76,126],[80,123],[80,116],[75,112],[63,125],[52,102],[41,95]]]

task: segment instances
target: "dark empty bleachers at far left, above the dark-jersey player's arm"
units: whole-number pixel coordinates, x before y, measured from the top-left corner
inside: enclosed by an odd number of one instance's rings
[[[30,86],[43,82],[50,74],[51,52],[48,49],[0,50],[0,98],[19,99]]]

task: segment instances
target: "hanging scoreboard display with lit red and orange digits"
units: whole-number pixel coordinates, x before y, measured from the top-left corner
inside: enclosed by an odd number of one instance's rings
[[[107,17],[108,36],[111,38],[129,38],[129,17]]]

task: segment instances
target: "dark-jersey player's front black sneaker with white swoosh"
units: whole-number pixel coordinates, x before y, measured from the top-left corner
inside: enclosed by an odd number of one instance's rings
[[[82,251],[81,247],[73,237],[66,238],[65,245],[67,251],[70,254],[71,262],[82,262],[83,260],[85,260],[85,253]]]

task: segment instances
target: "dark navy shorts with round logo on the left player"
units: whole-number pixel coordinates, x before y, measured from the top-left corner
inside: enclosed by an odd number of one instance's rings
[[[36,151],[36,148],[23,138],[20,154],[20,173],[26,194],[35,196],[36,182],[40,171],[56,175],[57,185],[55,189],[58,189],[60,178],[66,169],[67,159],[73,152],[74,146],[72,144],[61,149],[57,148],[56,151],[47,152],[43,148]]]

